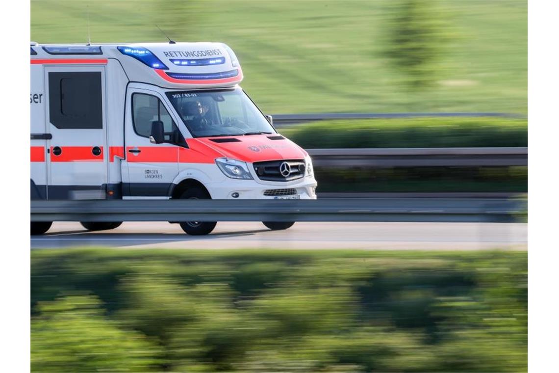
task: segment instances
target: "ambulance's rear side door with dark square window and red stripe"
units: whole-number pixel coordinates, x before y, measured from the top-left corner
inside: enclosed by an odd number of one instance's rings
[[[48,199],[104,199],[104,66],[45,67]]]

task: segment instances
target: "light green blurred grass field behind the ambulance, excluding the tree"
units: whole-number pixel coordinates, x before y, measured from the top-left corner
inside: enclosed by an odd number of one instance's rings
[[[438,83],[409,93],[383,55],[394,2],[32,0],[31,39],[224,41],[268,113],[527,112],[527,3],[443,1],[453,35]]]

